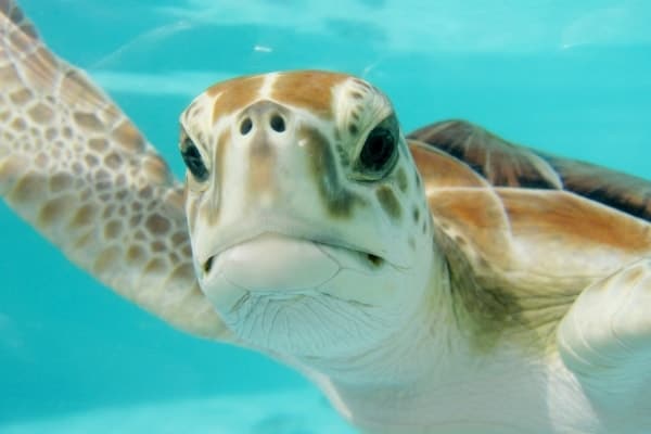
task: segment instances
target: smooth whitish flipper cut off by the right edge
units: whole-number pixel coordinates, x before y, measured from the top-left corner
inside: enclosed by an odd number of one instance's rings
[[[651,380],[651,258],[587,288],[558,331],[561,357],[591,392],[635,393]]]

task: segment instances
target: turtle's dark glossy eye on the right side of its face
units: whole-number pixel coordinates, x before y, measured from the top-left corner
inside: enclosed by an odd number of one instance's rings
[[[392,116],[369,132],[357,161],[357,168],[366,178],[382,178],[396,162],[398,129]]]

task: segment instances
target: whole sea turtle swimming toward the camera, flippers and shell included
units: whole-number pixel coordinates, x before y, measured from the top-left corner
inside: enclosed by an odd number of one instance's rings
[[[260,350],[368,433],[651,432],[651,183],[362,79],[272,73],[181,114],[187,182],[0,1],[0,193],[107,286]]]

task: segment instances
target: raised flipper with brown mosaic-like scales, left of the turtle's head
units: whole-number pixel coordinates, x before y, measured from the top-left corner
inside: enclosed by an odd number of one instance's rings
[[[0,195],[126,298],[180,329],[226,339],[193,272],[182,186],[9,0],[0,0]]]

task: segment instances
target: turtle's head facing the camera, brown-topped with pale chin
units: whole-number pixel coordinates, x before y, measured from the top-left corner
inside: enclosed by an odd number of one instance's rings
[[[346,356],[400,328],[432,238],[382,92],[323,72],[238,78],[199,95],[181,127],[196,273],[244,345]]]

